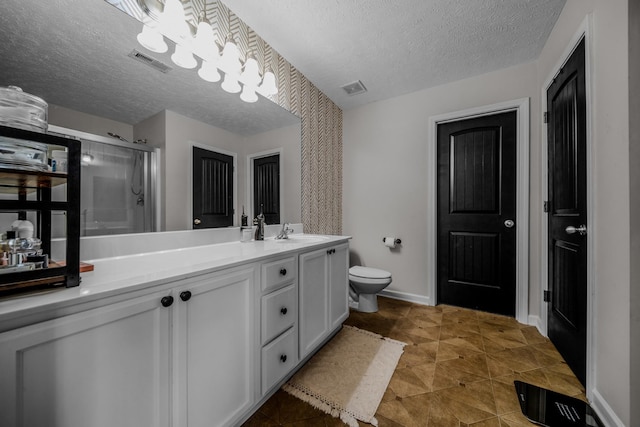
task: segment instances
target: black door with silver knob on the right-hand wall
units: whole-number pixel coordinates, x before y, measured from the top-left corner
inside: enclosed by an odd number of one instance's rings
[[[546,298],[549,338],[583,384],[587,348],[585,87],[583,40],[547,90],[549,292]]]

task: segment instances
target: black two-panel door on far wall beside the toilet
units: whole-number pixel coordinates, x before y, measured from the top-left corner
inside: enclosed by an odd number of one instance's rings
[[[438,303],[515,315],[516,117],[438,125]]]

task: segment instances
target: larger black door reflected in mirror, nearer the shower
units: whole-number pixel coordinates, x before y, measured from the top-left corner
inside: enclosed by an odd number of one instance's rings
[[[193,228],[233,225],[233,157],[193,147]]]

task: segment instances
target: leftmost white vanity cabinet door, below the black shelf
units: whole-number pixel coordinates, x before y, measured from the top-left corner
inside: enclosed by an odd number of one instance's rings
[[[0,425],[169,425],[169,319],[152,294],[0,334]]]

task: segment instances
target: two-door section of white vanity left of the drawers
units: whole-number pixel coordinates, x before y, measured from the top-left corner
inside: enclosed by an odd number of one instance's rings
[[[236,425],[257,398],[258,274],[222,270],[0,334],[0,426]]]

